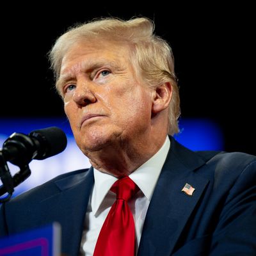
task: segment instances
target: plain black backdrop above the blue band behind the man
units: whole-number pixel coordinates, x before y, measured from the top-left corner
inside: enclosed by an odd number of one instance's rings
[[[7,18],[1,22],[0,118],[64,116],[47,52],[68,27],[97,17],[147,16],[154,20],[156,34],[172,46],[181,117],[211,118],[223,131],[225,150],[256,155],[252,6],[170,2],[167,7],[159,2],[147,3],[145,10],[131,3],[93,5],[22,3],[2,10]]]

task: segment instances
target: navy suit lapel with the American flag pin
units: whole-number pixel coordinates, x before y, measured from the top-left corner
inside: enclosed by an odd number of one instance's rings
[[[209,180],[193,172],[205,161],[171,138],[143,226],[138,256],[170,255]],[[182,158],[181,158],[182,157]],[[192,196],[181,190],[188,183]]]

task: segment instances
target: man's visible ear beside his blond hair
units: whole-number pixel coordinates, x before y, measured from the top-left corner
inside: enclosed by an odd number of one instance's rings
[[[172,84],[166,82],[154,89],[152,101],[152,113],[157,114],[168,108],[172,98]]]

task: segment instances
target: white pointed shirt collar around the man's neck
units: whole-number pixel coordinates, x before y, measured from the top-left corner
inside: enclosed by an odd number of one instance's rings
[[[163,168],[169,148],[170,140],[167,136],[163,146],[157,153],[129,175],[149,201],[153,195],[156,182]],[[100,204],[102,204],[102,201],[108,194],[109,189],[118,179],[107,173],[102,173],[95,168],[93,168],[93,174],[95,184],[92,192],[92,212],[93,215],[95,215]]]

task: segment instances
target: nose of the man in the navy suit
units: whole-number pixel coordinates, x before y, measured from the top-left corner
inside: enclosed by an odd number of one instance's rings
[[[93,86],[89,83],[81,83],[77,81],[76,90],[73,94],[73,100],[80,107],[87,106],[97,101],[94,93]]]

